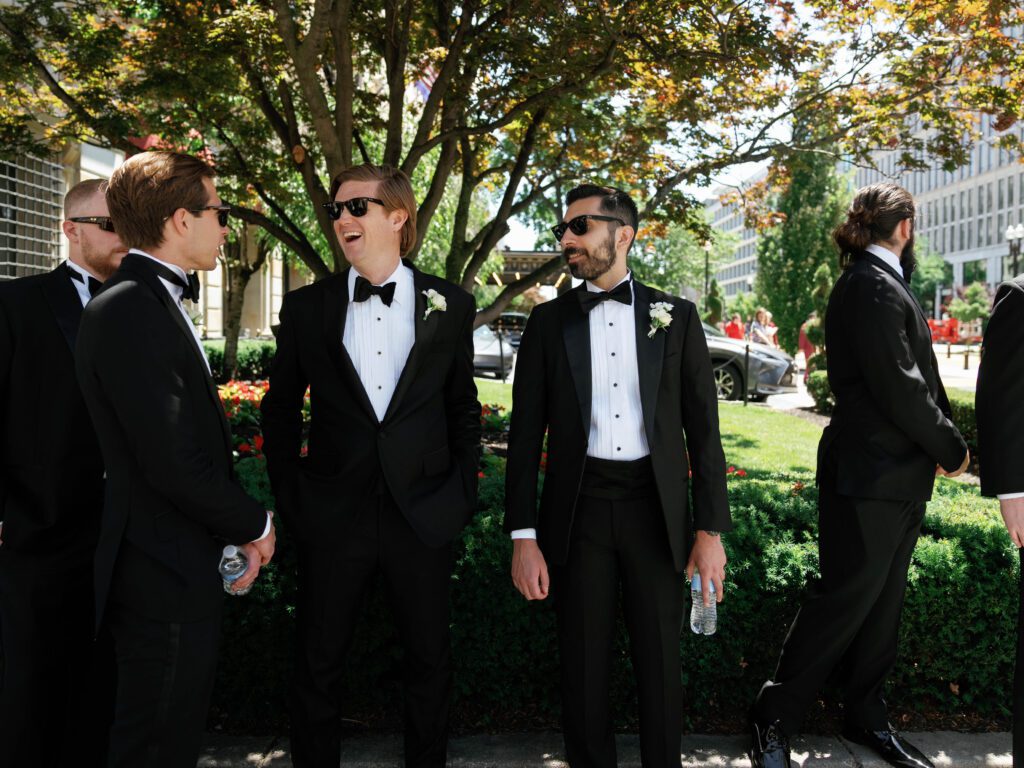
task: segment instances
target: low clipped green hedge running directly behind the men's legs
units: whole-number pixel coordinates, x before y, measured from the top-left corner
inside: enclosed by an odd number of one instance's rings
[[[479,514],[466,530],[453,575],[457,729],[557,727],[558,652],[552,606],[527,603],[509,579],[511,544],[501,529],[503,462],[485,458]],[[270,505],[261,458],[239,463],[247,488]],[[740,728],[771,675],[808,578],[817,572],[816,490],[809,475],[752,470],[729,479],[735,529],[724,537],[729,582],[719,632],[681,633],[688,727]],[[284,725],[295,605],[288,520],[279,554],[245,599],[227,600],[215,718],[247,731]],[[941,480],[910,571],[898,667],[887,699],[894,713],[967,714],[1006,726],[1013,679],[1018,559],[994,506]],[[626,632],[620,627],[612,698],[616,722],[635,728]],[[383,594],[368,600],[350,654],[346,717],[398,728],[400,653]],[[829,699],[829,696],[825,696]],[[808,729],[822,726],[820,710]],[[965,721],[966,722],[966,721]],[[923,723],[920,723],[923,724]]]

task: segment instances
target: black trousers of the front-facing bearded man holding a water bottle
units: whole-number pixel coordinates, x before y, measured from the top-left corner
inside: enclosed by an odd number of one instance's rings
[[[686,577],[673,564],[657,500],[582,496],[568,559],[552,568],[551,579],[569,765],[616,764],[608,691],[621,589],[637,682],[641,761],[645,768],[678,768]]]

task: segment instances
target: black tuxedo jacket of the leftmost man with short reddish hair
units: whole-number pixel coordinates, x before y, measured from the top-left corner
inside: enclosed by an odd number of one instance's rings
[[[82,302],[61,264],[0,283],[0,520],[3,549],[96,545],[103,464],[75,378]]]

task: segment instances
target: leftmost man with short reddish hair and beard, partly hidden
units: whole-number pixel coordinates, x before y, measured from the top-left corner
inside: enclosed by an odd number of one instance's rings
[[[65,197],[68,261],[0,283],[0,765],[105,765],[113,655],[93,642],[103,464],[75,379],[82,307],[125,248],[106,182]]]

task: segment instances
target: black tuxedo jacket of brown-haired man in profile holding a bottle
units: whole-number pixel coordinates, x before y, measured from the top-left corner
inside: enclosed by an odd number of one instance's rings
[[[225,542],[266,513],[232,479],[227,420],[202,352],[151,262],[129,253],[88,304],[78,378],[106,466],[96,605],[157,621],[213,615]]]

